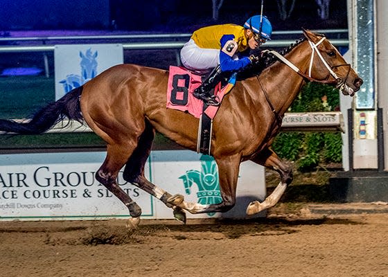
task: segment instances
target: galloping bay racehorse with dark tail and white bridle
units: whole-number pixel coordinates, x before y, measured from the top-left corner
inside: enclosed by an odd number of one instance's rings
[[[281,181],[264,202],[254,201],[247,215],[274,206],[292,181],[292,168],[279,159],[271,144],[281,127],[281,119],[301,86],[308,81],[336,86],[353,96],[362,79],[347,64],[324,35],[303,30],[304,37],[281,51],[265,53],[263,68],[248,69],[224,97],[213,120],[211,155],[218,166],[222,202],[186,202],[182,195],[171,195],[144,177],[144,165],[151,151],[155,132],[189,150],[197,148],[199,119],[182,111],[166,108],[168,71],[121,64],[73,89],[49,104],[25,123],[0,120],[0,130],[19,134],[39,134],[64,118],[86,122],[107,143],[107,156],[96,172],[96,179],[129,209],[130,225],[140,222],[141,208],[118,186],[123,178],[173,208],[178,220],[190,213],[215,213],[231,209],[236,202],[240,163],[254,161],[279,172]],[[242,73],[241,75],[244,75]]]

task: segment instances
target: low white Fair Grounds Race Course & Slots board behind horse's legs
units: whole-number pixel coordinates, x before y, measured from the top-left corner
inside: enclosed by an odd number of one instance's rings
[[[0,220],[87,220],[129,217],[127,208],[96,181],[94,175],[105,152],[31,153],[0,155]],[[188,150],[154,151],[145,165],[145,177],[186,201],[220,202],[218,171],[209,156]],[[173,218],[162,202],[118,175],[118,184],[142,208],[142,217]],[[245,217],[253,200],[265,197],[264,170],[254,163],[240,166],[237,204],[223,215]]]

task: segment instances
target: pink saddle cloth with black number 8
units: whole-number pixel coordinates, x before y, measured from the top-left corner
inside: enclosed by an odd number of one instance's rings
[[[193,91],[202,83],[201,76],[179,66],[170,66],[167,86],[167,107],[168,109],[177,109],[187,111],[189,114],[200,118],[202,112],[206,113],[211,119],[214,118],[220,106],[209,106],[205,110],[204,102],[193,96]],[[224,98],[228,86],[220,89],[216,86],[214,94],[218,96],[221,102]]]

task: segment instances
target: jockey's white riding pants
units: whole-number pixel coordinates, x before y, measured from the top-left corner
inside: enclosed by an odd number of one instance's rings
[[[181,61],[193,71],[211,71],[220,64],[220,49],[200,48],[190,39],[181,50]]]

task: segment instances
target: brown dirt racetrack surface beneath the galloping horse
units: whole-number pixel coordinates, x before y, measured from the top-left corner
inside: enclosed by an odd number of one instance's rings
[[[362,208],[143,220],[136,231],[124,220],[0,222],[0,276],[388,276],[388,213]]]

